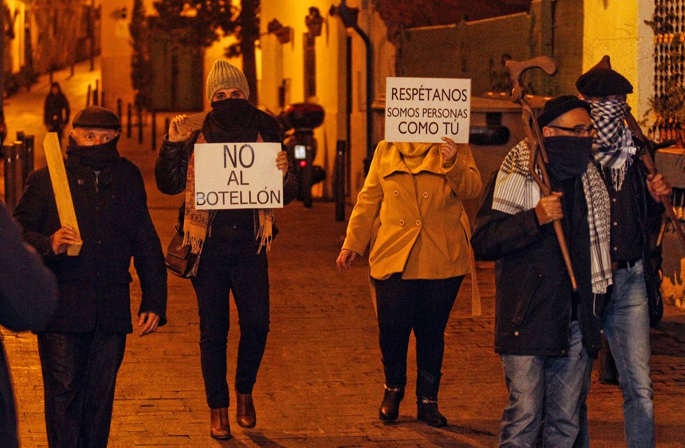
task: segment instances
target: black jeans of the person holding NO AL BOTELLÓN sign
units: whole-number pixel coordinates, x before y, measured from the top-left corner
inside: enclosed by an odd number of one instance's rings
[[[200,360],[210,408],[229,406],[226,346],[229,297],[238,308],[240,342],[236,388],[251,393],[269,334],[269,263],[266,249],[257,253],[253,233],[235,229],[208,238],[197,276],[192,280],[200,316]]]

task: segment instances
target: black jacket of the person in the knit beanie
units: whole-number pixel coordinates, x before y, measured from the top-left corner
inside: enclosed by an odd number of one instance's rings
[[[282,138],[278,122],[269,114],[260,111],[260,135],[264,142],[281,143]],[[188,140],[185,142],[171,142],[168,136],[164,137],[162,141],[162,149],[160,156],[155,163],[155,179],[157,181],[157,188],[164,194],[179,194],[186,189],[186,173],[188,172],[188,160],[192,151],[195,150],[195,142],[200,135],[200,130],[193,132]],[[285,150],[285,146],[283,147]],[[290,166],[288,174],[283,179],[283,205],[288,205],[297,196],[297,179],[295,172]],[[182,233],[183,219],[186,210],[185,202],[179,209],[179,218],[177,224],[177,231]],[[210,211],[210,228],[212,221],[216,216],[216,210]],[[259,228],[259,219],[257,213],[253,213],[253,222],[255,235]],[[278,233],[278,229],[274,224],[273,236]]]

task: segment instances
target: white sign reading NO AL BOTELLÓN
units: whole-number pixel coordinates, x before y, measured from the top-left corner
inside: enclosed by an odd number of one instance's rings
[[[283,207],[283,173],[276,168],[280,143],[195,144],[195,207]]]

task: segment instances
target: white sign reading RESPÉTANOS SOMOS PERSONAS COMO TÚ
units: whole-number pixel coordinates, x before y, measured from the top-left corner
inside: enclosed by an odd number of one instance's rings
[[[386,78],[386,142],[469,143],[471,79]]]

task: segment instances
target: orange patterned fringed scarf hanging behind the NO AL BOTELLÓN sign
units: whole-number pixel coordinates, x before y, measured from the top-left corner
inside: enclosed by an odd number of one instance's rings
[[[258,135],[257,142],[263,142],[262,136]],[[197,137],[196,143],[206,143],[202,133]],[[271,250],[271,239],[273,239],[273,209],[258,209],[259,230],[256,239],[260,240],[257,253],[266,247],[266,252]],[[202,246],[207,237],[210,224],[210,211],[195,209],[195,151],[192,152],[188,161],[186,176],[186,212],[183,218],[184,238],[183,244],[190,244],[193,254],[202,252]]]

